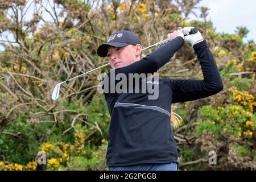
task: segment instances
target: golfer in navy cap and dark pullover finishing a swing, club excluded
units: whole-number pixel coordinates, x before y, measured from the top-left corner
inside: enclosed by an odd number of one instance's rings
[[[192,28],[185,27],[168,34],[170,42],[143,58],[141,41],[130,31],[115,32],[107,43],[98,47],[98,56],[108,56],[113,68],[106,74],[103,86],[109,84],[104,95],[111,115],[106,153],[106,165],[110,171],[178,169],[177,144],[170,123],[171,104],[212,96],[223,89],[207,42],[199,31],[189,35]],[[158,86],[158,98],[152,100],[148,99],[151,93],[113,92],[113,87],[121,81],[115,77],[119,73],[127,78],[129,74],[153,74],[170,61],[185,40],[196,52],[204,80],[140,79],[139,82]],[[133,89],[129,86],[123,86],[123,90]]]

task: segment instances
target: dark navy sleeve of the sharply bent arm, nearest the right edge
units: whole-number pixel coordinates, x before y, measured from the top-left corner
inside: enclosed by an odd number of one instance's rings
[[[204,80],[168,79],[167,81],[173,94],[172,103],[212,96],[223,89],[220,72],[207,42],[204,40],[195,44],[193,48],[195,49],[197,59],[200,61]]]

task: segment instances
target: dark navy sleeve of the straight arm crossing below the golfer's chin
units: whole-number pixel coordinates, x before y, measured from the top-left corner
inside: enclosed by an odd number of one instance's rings
[[[130,64],[126,67],[112,69],[110,72],[107,73],[107,77],[105,76],[104,85],[106,84],[106,82],[108,82],[108,84],[110,85],[109,89],[114,88],[120,80],[116,80],[113,75],[117,76],[118,73],[123,73],[127,78],[129,76],[129,73],[153,74],[154,72],[158,71],[158,69],[161,68],[164,64],[166,64],[171,59],[171,57],[174,56],[174,53],[177,52],[181,48],[181,46],[183,46],[183,44],[184,39],[181,38],[181,36],[177,36],[175,39],[172,39],[167,44],[159,47],[143,59],[136,61],[135,63]]]

